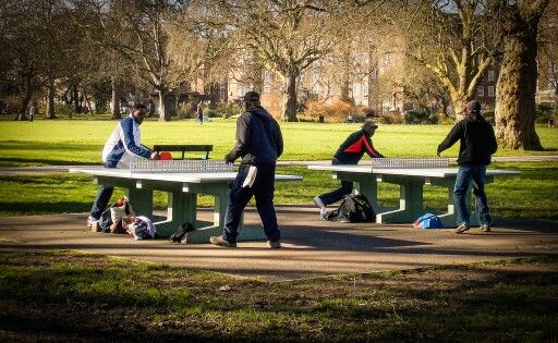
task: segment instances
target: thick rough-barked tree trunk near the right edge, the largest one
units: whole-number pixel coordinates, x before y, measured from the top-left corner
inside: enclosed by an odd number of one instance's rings
[[[535,132],[537,24],[525,23],[505,36],[496,85],[496,136],[510,149],[542,150]]]

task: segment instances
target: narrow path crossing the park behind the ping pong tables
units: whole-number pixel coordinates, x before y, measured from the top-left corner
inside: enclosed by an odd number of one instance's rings
[[[456,161],[456,158],[452,159]],[[493,157],[494,162],[557,162],[558,155],[548,156],[497,156]],[[278,161],[278,166],[308,166],[330,164],[330,160],[319,161]],[[369,163],[366,159],[361,164]],[[45,167],[0,167],[0,175],[21,174],[44,174],[44,173],[66,173],[69,169],[76,166],[45,166]]]

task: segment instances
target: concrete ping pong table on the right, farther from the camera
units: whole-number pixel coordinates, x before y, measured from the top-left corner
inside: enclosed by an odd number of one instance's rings
[[[381,161],[384,160],[384,161]],[[421,167],[407,167],[422,164]],[[421,161],[423,163],[421,163]],[[442,162],[441,164],[439,162]],[[376,164],[376,166],[374,166]],[[387,166],[392,167],[387,167]],[[428,166],[430,164],[430,166]],[[323,166],[310,164],[311,170],[326,170],[332,172],[333,179],[355,183],[355,189],[366,196],[376,213],[377,223],[412,223],[425,213],[424,185],[441,186],[447,188],[448,209],[439,215],[446,228],[456,225],[456,211],[453,207],[453,185],[458,168],[437,167],[447,166],[447,159],[373,159],[373,164],[357,166]],[[494,182],[495,176],[513,176],[519,171],[487,170],[486,184]],[[386,208],[378,203],[378,182],[397,184],[400,186],[399,208]],[[471,208],[471,188],[465,197]],[[471,224],[478,225],[478,213],[472,211]]]

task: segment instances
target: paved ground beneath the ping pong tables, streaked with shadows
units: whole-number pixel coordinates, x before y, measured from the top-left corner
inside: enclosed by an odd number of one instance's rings
[[[209,210],[201,210],[202,220]],[[241,242],[238,248],[210,244],[134,241],[90,232],[86,213],[2,218],[0,250],[75,249],[166,262],[233,275],[281,281],[340,273],[375,272],[464,264],[539,254],[558,254],[558,221],[497,221],[492,233],[472,229],[418,230],[410,225],[345,224],[318,220],[314,207],[278,207],[283,248]],[[246,221],[258,223],[253,208]],[[505,228],[502,228],[505,226]]]

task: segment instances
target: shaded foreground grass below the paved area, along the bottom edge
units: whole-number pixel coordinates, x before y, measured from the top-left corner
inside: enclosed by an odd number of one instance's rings
[[[558,258],[266,283],[96,255],[0,253],[2,341],[558,339]]]

